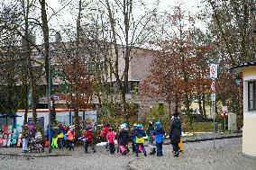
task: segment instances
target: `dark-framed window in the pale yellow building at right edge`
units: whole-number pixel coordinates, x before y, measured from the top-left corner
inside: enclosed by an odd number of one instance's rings
[[[256,81],[248,82],[248,111],[256,111]]]

